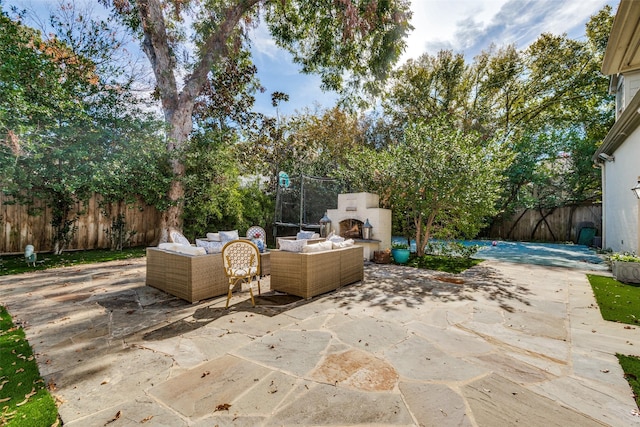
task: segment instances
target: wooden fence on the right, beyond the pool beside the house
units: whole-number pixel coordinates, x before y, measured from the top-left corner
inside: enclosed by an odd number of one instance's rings
[[[584,227],[593,227],[596,229],[595,235],[602,236],[602,205],[521,210],[510,218],[494,222],[485,230],[483,237],[524,242],[578,243]]]

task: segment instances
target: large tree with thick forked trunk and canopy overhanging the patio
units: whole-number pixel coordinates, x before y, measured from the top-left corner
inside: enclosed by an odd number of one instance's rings
[[[406,0],[101,0],[139,35],[156,79],[167,124],[174,175],[171,207],[161,228],[181,228],[185,165],[180,152],[193,129],[197,97],[225,58],[249,43],[248,30],[263,16],[279,46],[293,53],[304,73],[319,73],[326,89],[375,90],[397,60],[409,30]],[[195,52],[180,56],[193,22]],[[184,59],[183,63],[181,60]],[[345,83],[345,72],[351,79]],[[178,87],[179,78],[182,87]]]

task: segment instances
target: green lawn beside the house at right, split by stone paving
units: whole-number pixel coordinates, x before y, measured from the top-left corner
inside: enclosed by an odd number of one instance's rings
[[[640,323],[640,286],[594,274],[587,274],[587,278],[604,320],[630,325]],[[640,358],[622,354],[616,356],[640,408]]]

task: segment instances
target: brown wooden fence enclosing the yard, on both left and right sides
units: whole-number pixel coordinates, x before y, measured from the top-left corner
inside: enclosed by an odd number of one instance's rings
[[[98,249],[111,245],[107,230],[118,214],[124,214],[127,230],[135,230],[132,246],[147,246],[158,240],[158,224],[161,214],[142,202],[134,205],[123,203],[100,207],[100,196],[94,196],[86,205],[78,204],[77,231],[66,249]],[[27,206],[7,204],[0,194],[0,253],[21,253],[28,244],[36,252],[53,250],[51,211],[41,210],[30,214]],[[543,211],[523,210],[511,218],[496,221],[481,237],[517,241],[578,242],[580,230],[585,226],[596,229],[602,235],[602,206],[568,206]]]

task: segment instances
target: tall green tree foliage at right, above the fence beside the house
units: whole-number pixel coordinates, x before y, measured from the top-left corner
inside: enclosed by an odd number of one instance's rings
[[[382,104],[391,137],[378,140],[401,140],[408,123],[447,115],[515,153],[499,213],[596,200],[600,176],[591,157],[613,123],[600,72],[612,20],[607,6],[587,24],[587,40],[542,34],[524,51],[492,46],[469,64],[451,51],[408,61]]]

